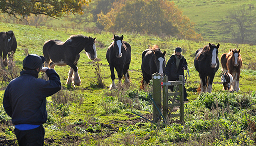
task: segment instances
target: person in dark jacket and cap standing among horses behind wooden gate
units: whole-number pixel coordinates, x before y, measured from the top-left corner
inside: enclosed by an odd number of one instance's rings
[[[187,69],[187,61],[183,55],[181,55],[182,49],[181,47],[175,48],[175,53],[170,57],[166,66],[165,66],[165,75],[168,76],[169,81],[177,81],[179,80],[179,76],[183,75],[184,70]],[[171,91],[173,91],[174,86],[170,86]],[[187,91],[185,85],[184,88],[184,101],[188,101],[187,99]]]

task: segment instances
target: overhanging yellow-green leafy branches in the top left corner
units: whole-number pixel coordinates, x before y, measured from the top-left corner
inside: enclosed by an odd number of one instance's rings
[[[16,18],[21,16],[22,19],[31,14],[57,18],[68,13],[82,14],[82,6],[89,2],[91,0],[4,0],[0,1],[0,10]]]

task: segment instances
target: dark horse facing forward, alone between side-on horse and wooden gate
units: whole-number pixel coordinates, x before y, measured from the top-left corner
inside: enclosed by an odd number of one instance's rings
[[[114,35],[114,41],[107,48],[106,58],[111,70],[111,89],[116,88],[114,83],[114,68],[118,74],[119,85],[121,86],[122,84],[121,78],[123,76],[125,78],[125,84],[130,84],[128,69],[131,62],[131,46],[128,42],[123,41],[123,35],[121,37]]]

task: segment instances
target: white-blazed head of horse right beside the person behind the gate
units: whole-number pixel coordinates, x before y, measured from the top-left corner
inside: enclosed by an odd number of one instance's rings
[[[154,50],[155,55],[155,63],[157,66],[157,72],[161,74],[161,76],[164,75],[165,70],[165,54],[166,52],[162,52],[159,50]]]

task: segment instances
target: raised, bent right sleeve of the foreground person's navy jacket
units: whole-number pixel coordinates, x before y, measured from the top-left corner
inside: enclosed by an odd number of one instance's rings
[[[60,77],[54,69],[48,69],[46,75],[49,77],[48,81],[42,80],[41,92],[46,97],[53,95],[61,89]]]

